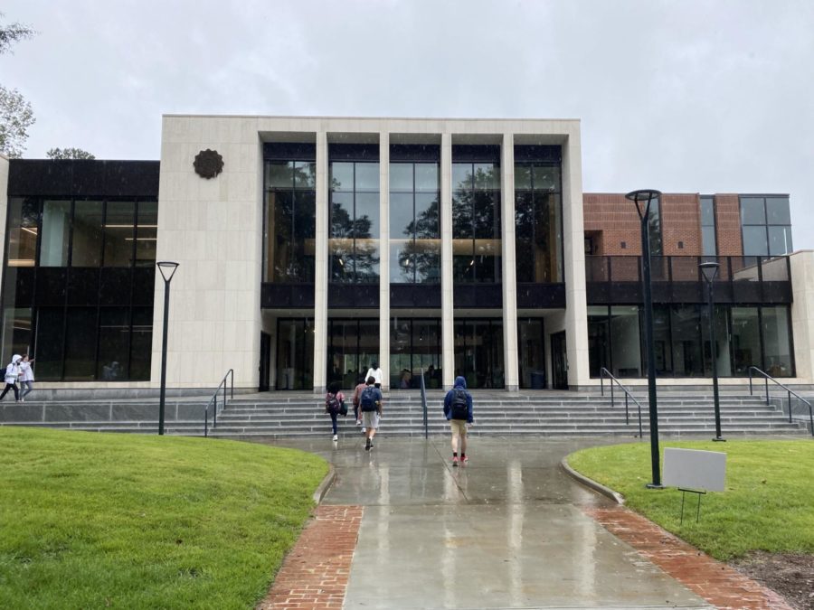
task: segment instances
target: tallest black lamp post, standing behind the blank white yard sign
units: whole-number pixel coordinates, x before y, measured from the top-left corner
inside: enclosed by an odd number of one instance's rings
[[[656,350],[653,346],[653,295],[650,289],[650,238],[648,222],[650,205],[661,197],[661,192],[654,189],[631,191],[625,195],[636,204],[641,221],[641,283],[645,307],[645,344],[648,346],[648,402],[650,417],[650,465],[653,482],[648,483],[651,489],[661,489],[661,468],[658,455],[658,404],[656,399]]]

